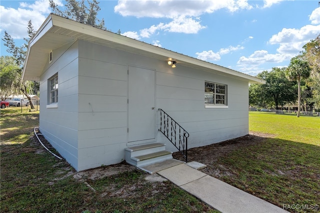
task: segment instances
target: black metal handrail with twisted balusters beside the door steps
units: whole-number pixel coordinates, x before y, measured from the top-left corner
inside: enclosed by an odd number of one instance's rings
[[[160,128],[158,130],[179,150],[186,163],[189,133],[162,109],[158,109],[158,111],[160,111]]]

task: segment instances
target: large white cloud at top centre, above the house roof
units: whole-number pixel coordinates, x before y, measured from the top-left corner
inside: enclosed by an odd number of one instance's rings
[[[225,8],[231,12],[238,9],[251,9],[247,0],[118,0],[114,11],[122,16],[170,18],[167,23],[160,22],[139,33],[125,32],[136,39],[149,38],[156,32],[168,31],[178,33],[198,33],[206,28],[201,25],[199,15],[212,13]]]

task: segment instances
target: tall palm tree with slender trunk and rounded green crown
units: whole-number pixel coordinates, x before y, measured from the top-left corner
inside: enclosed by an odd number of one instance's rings
[[[286,77],[291,81],[297,81],[298,84],[298,112],[297,117],[300,117],[301,107],[301,79],[306,79],[310,76],[310,67],[308,62],[301,60],[299,56],[291,59],[289,66],[285,70]]]

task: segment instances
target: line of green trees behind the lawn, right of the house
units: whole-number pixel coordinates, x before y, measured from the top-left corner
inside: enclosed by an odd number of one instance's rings
[[[249,86],[249,105],[257,108],[320,109],[320,34],[303,46],[287,67],[272,68],[256,77],[265,84]]]

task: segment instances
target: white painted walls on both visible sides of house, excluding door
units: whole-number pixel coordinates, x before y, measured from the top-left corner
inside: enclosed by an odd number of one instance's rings
[[[48,80],[58,71],[59,107],[41,110],[40,131],[77,171],[124,159],[124,149],[129,145],[128,66],[155,70],[156,113],[161,108],[188,131],[188,148],[248,134],[246,81],[182,64],[172,68],[167,61],[146,60],[82,40],[54,50],[54,55],[41,75],[40,102],[50,102]],[[203,107],[206,81],[225,85],[227,105]],[[157,130],[158,114],[155,120]],[[155,137],[157,142],[166,143],[168,151],[176,152],[163,134],[156,131]]]

